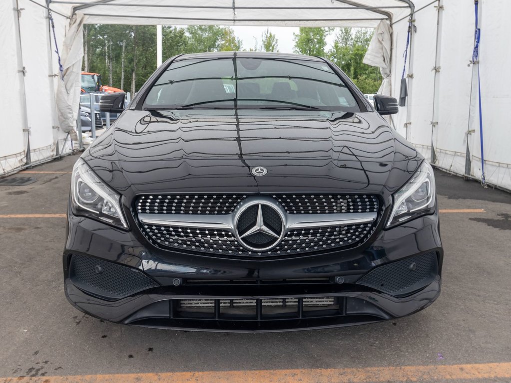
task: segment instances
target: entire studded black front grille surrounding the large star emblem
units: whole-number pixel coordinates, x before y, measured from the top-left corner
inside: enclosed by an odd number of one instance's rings
[[[133,214],[135,219],[139,214],[172,221],[174,215],[223,215],[221,219],[231,215],[234,217],[236,207],[247,197],[259,195],[246,194],[152,194],[141,195],[135,199]],[[375,195],[349,194],[268,194],[275,203],[280,203],[289,216],[321,214],[375,214],[381,216],[379,199]],[[280,217],[274,209],[262,206],[265,225],[273,233],[282,233]],[[168,218],[161,217],[167,215]],[[240,215],[238,233],[250,229],[258,215],[257,206],[253,206]],[[217,219],[220,219],[218,217]],[[335,218],[338,219],[338,218]],[[175,220],[175,219],[174,219]],[[186,219],[184,219],[186,221]],[[207,218],[205,218],[207,221]],[[186,223],[144,223],[137,220],[144,236],[153,244],[162,248],[174,248],[190,251],[201,251],[213,254],[233,256],[269,257],[278,255],[293,255],[320,250],[350,247],[365,241],[375,230],[377,220],[369,223],[339,224],[337,226],[292,228],[284,233],[280,243],[270,250],[249,250],[236,238],[234,230],[229,228],[206,228],[187,226]],[[212,219],[214,221],[214,219]],[[246,221],[246,222],[245,222]],[[263,248],[261,244],[271,242],[273,237],[266,233],[255,233],[245,237],[245,244],[251,248]]]

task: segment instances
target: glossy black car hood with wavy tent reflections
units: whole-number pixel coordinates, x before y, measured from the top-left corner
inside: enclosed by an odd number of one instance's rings
[[[423,160],[377,113],[225,110],[126,110],[83,158],[130,200],[162,192],[388,196]],[[252,175],[254,166],[267,174]]]

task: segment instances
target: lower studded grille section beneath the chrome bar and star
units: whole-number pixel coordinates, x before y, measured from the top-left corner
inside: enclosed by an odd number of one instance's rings
[[[363,223],[292,230],[279,245],[264,252],[245,249],[232,233],[222,229],[144,224],[143,232],[153,243],[164,247],[266,257],[351,246],[368,237],[373,233],[374,228],[374,223]]]

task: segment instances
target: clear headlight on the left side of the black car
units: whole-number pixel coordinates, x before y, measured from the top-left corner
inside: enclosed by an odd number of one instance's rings
[[[82,159],[73,168],[71,206],[77,215],[129,228],[122,213],[121,196],[106,186]]]

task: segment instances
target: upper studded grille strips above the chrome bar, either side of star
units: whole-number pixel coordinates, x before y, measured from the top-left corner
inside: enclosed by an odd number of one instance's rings
[[[289,214],[378,212],[375,195],[349,194],[268,194]],[[137,213],[151,214],[231,214],[245,199],[244,194],[152,194],[135,200]]]

